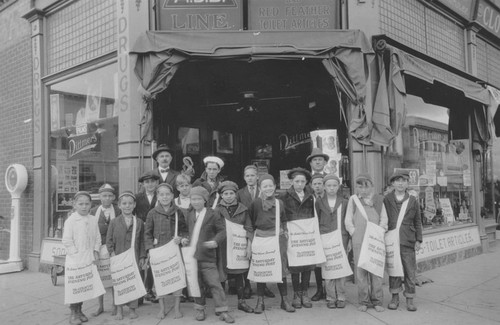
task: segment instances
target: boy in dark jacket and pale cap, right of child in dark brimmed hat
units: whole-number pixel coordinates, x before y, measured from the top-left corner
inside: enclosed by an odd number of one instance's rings
[[[325,184],[326,195],[316,201],[316,211],[319,218],[319,232],[323,235],[338,230],[339,220],[337,217],[339,216],[338,212],[340,212],[340,232],[342,234],[342,245],[345,251],[349,241],[349,234],[345,229],[344,222],[347,200],[337,195],[340,188],[340,179],[337,176],[331,174],[327,175],[323,181]],[[328,308],[345,307],[345,279],[346,278],[344,277],[325,280],[327,299],[326,306]]]

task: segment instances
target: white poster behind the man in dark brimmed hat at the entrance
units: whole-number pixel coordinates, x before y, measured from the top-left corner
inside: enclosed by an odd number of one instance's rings
[[[342,155],[339,152],[339,141],[337,130],[311,131],[311,141],[314,148],[320,148],[330,159],[323,171],[327,174],[339,176],[339,162]]]

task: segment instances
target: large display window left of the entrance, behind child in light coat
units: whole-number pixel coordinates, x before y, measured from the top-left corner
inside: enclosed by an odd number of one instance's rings
[[[116,64],[56,82],[49,87],[50,202],[48,237],[61,237],[77,191],[98,201],[108,183],[118,191]]]

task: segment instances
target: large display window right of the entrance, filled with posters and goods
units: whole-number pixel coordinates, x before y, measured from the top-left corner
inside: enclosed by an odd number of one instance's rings
[[[392,190],[389,177],[405,171],[410,177],[408,190],[420,202],[424,229],[472,223],[473,167],[467,111],[451,112],[413,95],[407,96],[406,104],[402,132],[384,155],[386,191]],[[458,115],[461,129],[454,134],[457,126],[452,125],[455,122],[450,116]]]

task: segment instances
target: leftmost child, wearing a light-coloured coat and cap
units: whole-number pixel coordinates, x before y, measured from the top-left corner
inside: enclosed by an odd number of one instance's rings
[[[79,265],[99,260],[101,236],[97,218],[90,215],[91,197],[89,192],[79,191],[73,198],[73,212],[64,222],[62,243],[66,248],[66,265]],[[69,323],[79,325],[88,318],[82,313],[83,302],[69,305]]]

